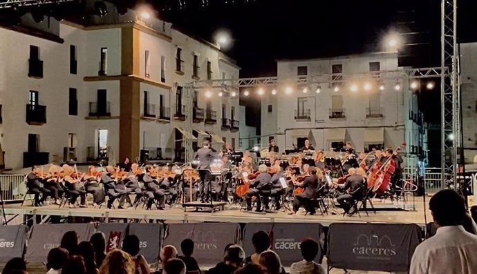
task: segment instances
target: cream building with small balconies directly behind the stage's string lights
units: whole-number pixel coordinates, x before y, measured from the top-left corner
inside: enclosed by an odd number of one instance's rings
[[[409,79],[384,79],[379,74],[353,79],[353,74],[398,70],[395,52],[277,63],[277,95],[269,93],[261,101],[262,146],[268,146],[272,138],[281,152],[292,145],[301,148],[305,139],[316,149],[328,151],[346,141],[357,151],[406,143],[408,159],[418,154],[422,115],[409,90]],[[326,80],[314,86],[292,86],[280,80],[310,75],[325,75]],[[331,80],[342,82],[332,84]]]

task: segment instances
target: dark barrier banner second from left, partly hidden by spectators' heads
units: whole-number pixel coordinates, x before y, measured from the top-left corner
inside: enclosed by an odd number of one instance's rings
[[[28,262],[45,262],[50,249],[58,247],[64,233],[76,231],[79,242],[88,241],[93,234],[93,224],[35,224],[32,227],[26,260]]]

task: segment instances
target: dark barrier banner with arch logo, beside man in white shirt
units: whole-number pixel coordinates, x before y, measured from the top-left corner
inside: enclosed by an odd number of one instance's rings
[[[409,271],[420,243],[415,224],[331,224],[328,265],[360,271]]]

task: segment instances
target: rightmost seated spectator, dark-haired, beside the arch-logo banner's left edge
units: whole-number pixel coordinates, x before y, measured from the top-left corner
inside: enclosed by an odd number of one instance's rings
[[[292,264],[290,274],[326,274],[325,268],[314,262],[319,251],[319,244],[314,239],[303,240],[300,250],[303,260]]]

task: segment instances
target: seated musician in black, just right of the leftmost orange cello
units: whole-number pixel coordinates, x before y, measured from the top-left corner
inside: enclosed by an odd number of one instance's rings
[[[252,197],[257,197],[256,199],[256,211],[261,212],[261,194],[271,193],[272,190],[272,176],[268,174],[268,167],[264,164],[259,166],[260,175],[258,175],[254,182],[250,183],[250,189],[247,192],[246,202],[247,202],[247,211],[252,210]],[[265,210],[268,209],[268,199],[263,201],[265,203]]]

